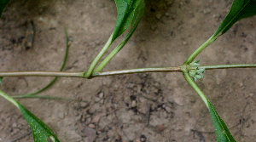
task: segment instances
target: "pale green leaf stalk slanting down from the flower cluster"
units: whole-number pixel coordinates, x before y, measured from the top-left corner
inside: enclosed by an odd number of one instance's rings
[[[201,97],[201,99],[204,101],[204,103],[207,105],[207,108],[209,109],[209,105],[208,105],[209,100],[207,99],[205,94],[203,94],[201,92],[201,89],[197,87],[197,85],[192,80],[192,78],[189,77],[189,72],[188,71],[183,71],[183,77],[186,79],[186,81],[189,83],[189,85],[195,90],[195,92]]]

